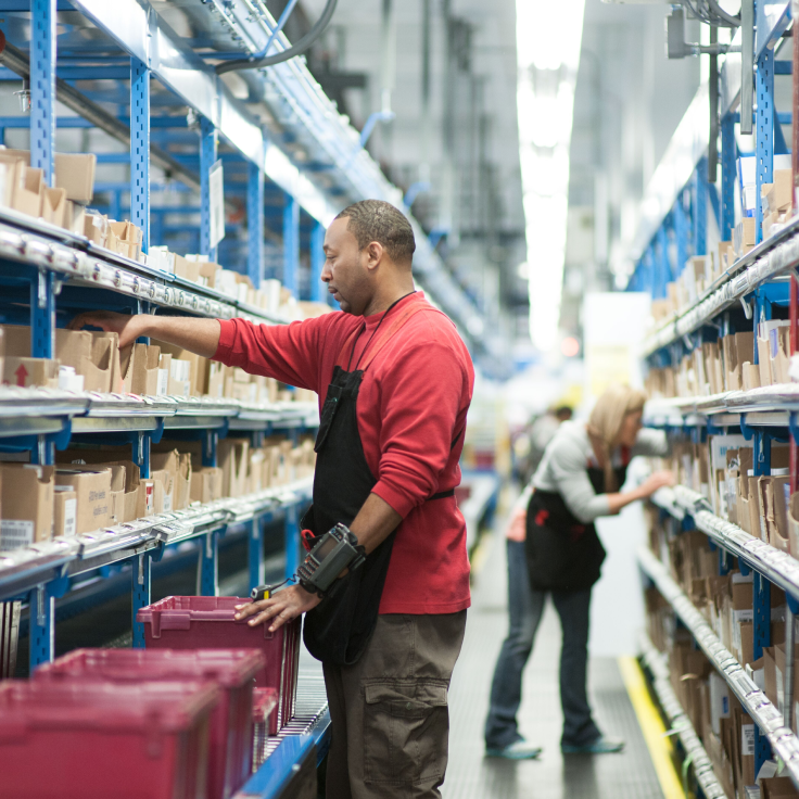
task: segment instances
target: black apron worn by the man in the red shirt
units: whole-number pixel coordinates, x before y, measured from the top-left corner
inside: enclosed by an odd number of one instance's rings
[[[393,307],[385,312],[383,319]],[[342,347],[325,397],[316,439],[314,504],[301,522],[317,540],[339,522],[348,527],[377,483],[360,442],[356,413],[358,391],[375,356],[413,315],[421,310],[440,313],[427,303],[401,308],[373,345],[371,340],[367,343],[364,352],[369,350],[369,354],[362,354],[364,364],[356,364],[353,371],[348,370],[352,353],[364,328],[355,331]],[[372,339],[377,333],[376,329]],[[341,364],[347,351],[351,355],[345,371]],[[428,502],[454,494],[454,490],[442,492],[429,497]],[[303,638],[317,660],[351,665],[363,655],[377,624],[395,534],[396,531],[392,532],[378,545],[359,569],[337,580],[319,605],[305,616]],[[310,546],[314,546],[313,540]]]

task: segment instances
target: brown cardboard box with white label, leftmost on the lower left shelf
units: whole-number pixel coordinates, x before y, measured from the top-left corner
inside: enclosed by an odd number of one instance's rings
[[[55,467],[0,462],[0,550],[49,541]]]

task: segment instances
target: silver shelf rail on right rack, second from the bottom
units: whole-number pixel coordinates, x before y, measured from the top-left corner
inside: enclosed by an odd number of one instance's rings
[[[757,725],[756,730],[760,731],[761,736],[771,745],[773,753],[785,764],[785,773],[799,785],[799,738],[785,723],[783,713],[771,703],[732,652],[724,647],[702,614],[672,580],[667,568],[646,547],[638,549],[638,565],[690,631],[711,664],[724,677]],[[756,774],[760,769],[757,748],[756,743]]]

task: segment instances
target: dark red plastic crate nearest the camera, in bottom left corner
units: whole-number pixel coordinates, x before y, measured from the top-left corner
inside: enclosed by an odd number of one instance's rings
[[[0,799],[200,799],[211,683],[0,683]]]

